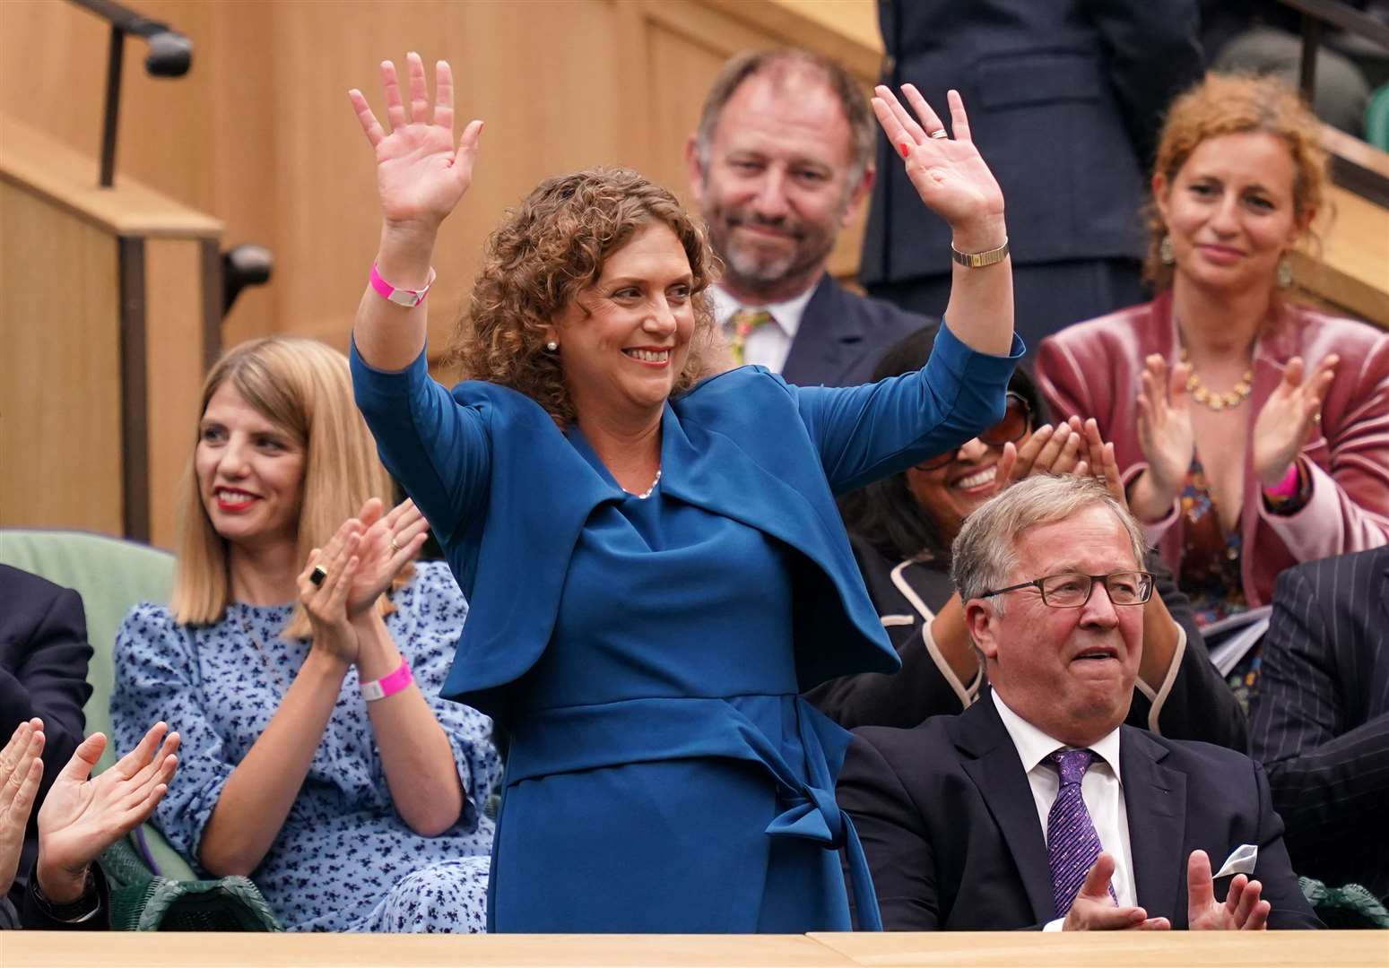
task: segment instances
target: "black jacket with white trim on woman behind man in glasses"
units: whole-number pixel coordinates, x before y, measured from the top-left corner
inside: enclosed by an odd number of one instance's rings
[[[853,547],[868,594],[901,658],[901,669],[892,675],[863,672],[832,679],[806,697],[850,729],[911,728],[933,715],[960,712],[970,703],[957,689],[967,692],[971,701],[982,697],[982,682],[986,682],[982,674],[979,682],[953,683],[945,658],[936,658],[928,646],[928,625],[954,593],[949,565],[945,561],[893,561],[860,539],[853,540]],[[1199,739],[1243,753],[1249,742],[1245,714],[1211,665],[1190,603],[1157,553],[1149,553],[1146,568],[1153,572],[1156,594],[1182,626],[1186,646],[1165,694],[1150,694],[1135,686],[1125,722],[1168,739]]]

